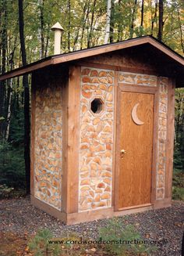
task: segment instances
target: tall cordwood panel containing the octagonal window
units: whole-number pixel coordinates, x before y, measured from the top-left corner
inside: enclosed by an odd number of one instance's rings
[[[82,67],[80,97],[79,210],[111,207],[115,72]],[[93,99],[104,103],[100,114]]]

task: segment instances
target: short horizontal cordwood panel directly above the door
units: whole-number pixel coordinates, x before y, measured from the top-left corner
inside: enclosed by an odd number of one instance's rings
[[[119,83],[157,86],[157,77],[149,74],[119,72]]]

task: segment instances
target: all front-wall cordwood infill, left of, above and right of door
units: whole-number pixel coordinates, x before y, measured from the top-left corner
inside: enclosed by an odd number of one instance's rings
[[[112,146],[115,72],[82,68],[80,99],[80,211],[111,207]],[[157,141],[157,200],[165,197],[168,78],[119,72],[119,82],[158,86],[159,114]],[[101,114],[92,114],[94,98],[104,101]]]

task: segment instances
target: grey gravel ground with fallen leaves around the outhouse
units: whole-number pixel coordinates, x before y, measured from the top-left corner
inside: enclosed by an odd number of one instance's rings
[[[120,220],[125,225],[133,224],[145,239],[157,241],[155,255],[179,256],[181,255],[183,210],[183,202],[173,201],[172,207],[124,216]],[[55,237],[60,238],[64,233],[73,232],[80,237],[95,240],[98,228],[107,225],[108,222],[104,219],[66,226],[32,206],[29,197],[1,200],[0,212],[0,255],[2,256],[32,255],[27,243],[38,229],[48,228]],[[161,244],[159,245],[158,242]],[[97,254],[94,249],[85,255],[100,254]]]

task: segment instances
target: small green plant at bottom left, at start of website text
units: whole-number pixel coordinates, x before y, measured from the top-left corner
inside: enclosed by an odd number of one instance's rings
[[[34,236],[28,246],[35,256],[44,255],[61,255],[61,246],[59,244],[48,243],[53,238],[53,234],[49,229],[40,229]]]

